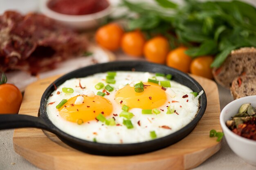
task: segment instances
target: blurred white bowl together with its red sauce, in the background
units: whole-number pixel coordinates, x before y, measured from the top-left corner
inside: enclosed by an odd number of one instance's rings
[[[108,0],[40,0],[40,11],[77,30],[99,26],[112,12]]]

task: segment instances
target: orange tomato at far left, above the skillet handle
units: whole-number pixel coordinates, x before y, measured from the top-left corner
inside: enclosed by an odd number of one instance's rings
[[[21,101],[22,94],[15,85],[0,85],[0,113],[18,113]]]

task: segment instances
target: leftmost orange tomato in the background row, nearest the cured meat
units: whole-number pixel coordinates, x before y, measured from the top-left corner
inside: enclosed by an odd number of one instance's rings
[[[100,27],[95,34],[96,42],[103,48],[115,51],[120,47],[123,29],[115,23]]]

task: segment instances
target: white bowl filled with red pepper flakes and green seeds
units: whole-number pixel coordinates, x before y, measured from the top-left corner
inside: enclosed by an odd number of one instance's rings
[[[247,163],[256,166],[256,114],[247,113],[248,107],[244,107],[244,111],[241,110],[243,104],[250,104],[255,108],[256,95],[236,99],[225,106],[220,113],[220,125],[227,144],[234,153]],[[232,120],[235,120],[233,127],[231,127]]]

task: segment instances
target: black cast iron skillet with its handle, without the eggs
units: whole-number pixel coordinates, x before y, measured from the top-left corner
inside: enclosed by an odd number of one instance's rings
[[[155,63],[148,63],[145,61],[117,61],[111,63],[103,63],[92,65],[84,68],[80,68],[68,74],[65,74],[61,78],[54,81],[54,84],[58,87],[66,80],[70,78],[79,78],[89,76],[99,72],[107,71],[142,71],[142,72],[160,72],[164,74],[172,74],[173,80],[177,81],[187,87],[190,87],[194,92],[200,92],[202,87],[193,78],[164,65],[159,65]],[[38,117],[27,116],[27,115],[0,115],[0,130],[1,129],[13,129],[13,128],[24,128],[24,127],[35,127],[40,129],[45,129],[58,136],[67,145],[81,150],[83,152],[97,154],[97,155],[135,155],[141,153],[147,153],[150,151],[158,150],[174,144],[184,137],[186,137],[196,126],[198,121],[202,118],[207,105],[207,99],[205,93],[200,97],[200,109],[195,118],[187,124],[185,127],[172,133],[168,136],[154,139],[147,142],[135,143],[135,144],[103,144],[90,142],[83,139],[79,139],[68,135],[67,133],[58,129],[49,120],[46,113],[47,98],[54,91],[54,85],[51,84],[45,90],[41,101],[40,110]]]

